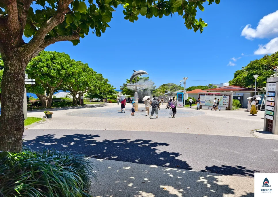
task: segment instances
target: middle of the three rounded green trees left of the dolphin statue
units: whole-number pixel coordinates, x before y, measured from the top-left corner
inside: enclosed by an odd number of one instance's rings
[[[73,105],[77,105],[77,100],[79,100],[81,95],[99,88],[99,80],[97,79],[96,71],[90,68],[87,63],[84,64],[81,61],[75,62],[73,60],[73,64],[76,65],[77,72],[64,83],[62,89],[71,92]]]

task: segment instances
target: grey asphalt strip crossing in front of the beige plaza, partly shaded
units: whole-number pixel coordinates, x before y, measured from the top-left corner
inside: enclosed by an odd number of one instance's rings
[[[171,130],[171,127],[169,127]],[[92,158],[222,175],[278,173],[278,140],[171,132],[40,130],[24,132],[24,145],[69,149]]]

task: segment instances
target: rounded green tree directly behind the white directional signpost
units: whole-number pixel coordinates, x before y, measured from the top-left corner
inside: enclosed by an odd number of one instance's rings
[[[26,85],[27,91],[37,95],[42,107],[51,107],[53,94],[68,84],[77,67],[65,53],[42,51],[28,63],[26,73],[36,80],[35,85]]]

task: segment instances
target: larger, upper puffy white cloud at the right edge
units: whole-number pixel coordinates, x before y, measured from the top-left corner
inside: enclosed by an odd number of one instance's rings
[[[278,35],[278,10],[269,15],[264,16],[258,23],[256,29],[251,28],[251,25],[246,25],[242,32],[242,36],[252,40],[254,38],[276,37]]]

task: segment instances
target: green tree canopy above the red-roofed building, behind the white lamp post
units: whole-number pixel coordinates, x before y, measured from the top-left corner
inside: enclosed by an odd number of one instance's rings
[[[261,59],[251,61],[241,70],[237,70],[234,78],[229,81],[230,85],[236,85],[246,88],[255,87],[254,74],[258,74],[257,87],[266,87],[266,78],[274,74],[273,67],[278,65],[278,52],[272,55],[265,55]]]

